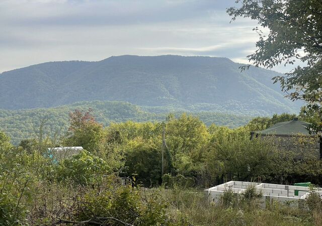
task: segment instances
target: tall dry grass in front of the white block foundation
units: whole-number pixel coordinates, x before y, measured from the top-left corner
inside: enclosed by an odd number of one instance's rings
[[[155,190],[168,203],[170,218],[183,225],[322,225],[321,210],[306,206],[274,202],[263,208],[252,201],[223,205],[210,202],[202,190]]]

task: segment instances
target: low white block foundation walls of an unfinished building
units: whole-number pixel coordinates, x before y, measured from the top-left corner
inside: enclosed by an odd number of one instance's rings
[[[250,186],[254,186],[257,192],[262,192],[263,200],[270,198],[277,201],[297,201],[305,199],[309,193],[309,187],[242,181],[229,181],[227,183],[208,188],[205,192],[212,201],[216,201],[220,198],[223,192],[229,188],[231,188],[234,193],[243,193]],[[316,192],[322,197],[322,188],[317,188]]]

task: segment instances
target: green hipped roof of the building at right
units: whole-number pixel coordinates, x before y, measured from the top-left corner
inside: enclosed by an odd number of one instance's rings
[[[292,121],[277,123],[273,125],[272,127],[262,130],[262,131],[256,131],[256,134],[262,134],[262,135],[307,135],[312,136],[309,134],[309,131],[307,127],[311,125],[310,123],[306,123],[303,121],[297,120],[295,118]]]

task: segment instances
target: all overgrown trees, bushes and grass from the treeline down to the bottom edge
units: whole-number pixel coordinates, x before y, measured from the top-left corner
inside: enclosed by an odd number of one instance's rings
[[[250,131],[258,126],[292,117],[256,118],[229,129],[170,114],[164,123],[128,121],[104,127],[90,109],[71,112],[68,132],[59,139],[44,132],[46,121],[40,122],[35,138],[18,146],[0,133],[1,223],[222,225],[261,219],[314,224],[321,216],[314,191],[305,206],[275,203],[264,209],[252,188],[238,197],[228,189],[217,204],[202,191],[228,180],[320,184],[319,160],[295,161],[287,147],[272,139],[250,140]],[[58,163],[47,158],[47,148],[60,145],[86,150]],[[121,185],[120,177],[130,183]]]

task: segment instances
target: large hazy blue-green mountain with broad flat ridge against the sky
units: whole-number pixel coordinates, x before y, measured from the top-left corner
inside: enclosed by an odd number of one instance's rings
[[[279,73],[227,58],[117,56],[98,62],[48,62],[0,74],[0,108],[53,107],[76,101],[128,101],[249,115],[298,112],[271,78]]]

